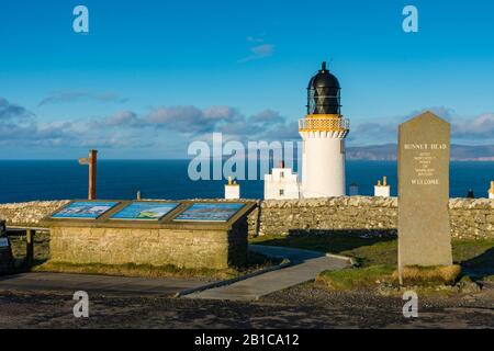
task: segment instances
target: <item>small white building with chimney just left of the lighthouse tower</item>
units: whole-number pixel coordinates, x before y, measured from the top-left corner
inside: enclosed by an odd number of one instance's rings
[[[265,199],[300,199],[299,177],[291,168],[284,168],[283,162],[265,176]]]

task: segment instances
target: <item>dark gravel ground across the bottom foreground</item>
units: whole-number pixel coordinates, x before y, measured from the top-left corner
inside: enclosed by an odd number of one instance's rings
[[[304,284],[252,303],[144,296],[90,296],[89,318],[72,316],[63,293],[0,292],[0,328],[494,328],[494,286],[419,299],[403,317],[400,297],[329,293]]]

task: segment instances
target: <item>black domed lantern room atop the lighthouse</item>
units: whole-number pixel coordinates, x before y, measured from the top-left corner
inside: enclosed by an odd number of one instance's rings
[[[308,82],[307,114],[340,114],[340,90],[338,79],[329,73],[326,63],[323,63]]]

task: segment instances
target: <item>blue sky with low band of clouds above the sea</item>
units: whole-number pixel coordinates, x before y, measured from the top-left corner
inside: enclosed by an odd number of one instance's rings
[[[76,33],[76,5],[89,33]],[[405,33],[402,11],[418,10]],[[425,110],[494,143],[490,0],[2,0],[0,159],[186,158],[190,143],[297,140],[323,60],[351,146]]]

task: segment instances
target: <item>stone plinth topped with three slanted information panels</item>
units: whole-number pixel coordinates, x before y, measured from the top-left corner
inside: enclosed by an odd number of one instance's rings
[[[173,203],[171,210],[161,216],[159,211],[164,210],[159,206],[166,202],[145,206],[146,202],[128,201],[91,202],[94,204],[91,211],[98,211],[102,205],[116,205],[96,218],[64,218],[80,215],[85,210],[80,204],[88,204],[76,203],[79,205],[71,208],[67,206],[68,211],[63,215],[58,212],[58,217],[54,214],[44,219],[44,225],[50,229],[52,261],[173,264],[193,269],[224,269],[246,263],[247,215],[254,208],[254,203],[238,204],[224,216],[224,220],[220,218],[224,210],[210,214],[204,208],[207,206],[205,204]],[[136,204],[139,204],[137,211],[125,210]],[[227,204],[233,205],[212,205]],[[158,216],[155,217],[155,214]]]

